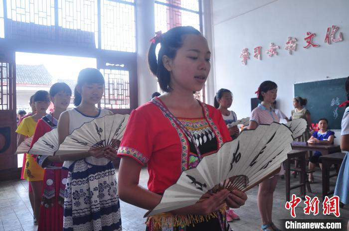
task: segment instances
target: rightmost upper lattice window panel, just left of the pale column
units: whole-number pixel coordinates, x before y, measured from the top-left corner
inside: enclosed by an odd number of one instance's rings
[[[101,0],[101,48],[136,52],[134,0]]]

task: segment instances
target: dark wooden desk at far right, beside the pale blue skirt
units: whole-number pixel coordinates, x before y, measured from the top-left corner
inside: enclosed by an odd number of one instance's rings
[[[323,164],[323,201],[325,196],[329,196],[334,193],[334,190],[330,191],[330,166],[337,164],[338,168],[341,166],[346,153],[333,153],[325,156],[320,156]],[[337,170],[338,172],[338,170]]]

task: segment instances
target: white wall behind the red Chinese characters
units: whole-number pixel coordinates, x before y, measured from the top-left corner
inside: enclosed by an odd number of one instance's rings
[[[216,90],[233,92],[231,110],[249,116],[250,98],[259,84],[278,84],[278,105],[291,115],[293,84],[349,75],[348,0],[212,0],[214,76]],[[327,27],[337,25],[344,41],[325,44]],[[318,48],[304,49],[306,32],[316,33]],[[297,50],[285,50],[288,36],[296,37]],[[278,55],[265,53],[270,42],[280,46]],[[262,46],[262,60],[253,58],[253,48]],[[242,65],[239,55],[248,48],[250,59]],[[339,133],[336,136],[340,136]]]

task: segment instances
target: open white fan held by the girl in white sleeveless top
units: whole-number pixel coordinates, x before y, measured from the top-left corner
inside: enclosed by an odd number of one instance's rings
[[[82,124],[59,145],[55,155],[88,151],[111,146],[118,149],[130,115],[106,115]]]

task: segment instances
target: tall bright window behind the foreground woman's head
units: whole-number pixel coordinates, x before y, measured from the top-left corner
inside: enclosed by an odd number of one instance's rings
[[[192,26],[200,31],[200,17],[199,0],[155,0],[155,31],[164,33],[176,26]],[[159,49],[160,46],[157,47],[157,53]],[[195,93],[195,98],[204,102],[204,93],[203,88]]]

